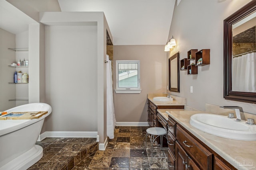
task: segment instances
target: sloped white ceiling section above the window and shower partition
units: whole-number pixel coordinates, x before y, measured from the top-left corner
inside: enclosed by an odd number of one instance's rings
[[[165,45],[175,0],[58,0],[62,12],[104,12],[113,45]]]

